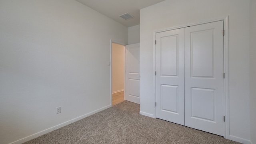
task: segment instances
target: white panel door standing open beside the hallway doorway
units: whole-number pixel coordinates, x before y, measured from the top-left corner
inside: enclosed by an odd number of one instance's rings
[[[140,104],[140,44],[126,45],[126,96]]]

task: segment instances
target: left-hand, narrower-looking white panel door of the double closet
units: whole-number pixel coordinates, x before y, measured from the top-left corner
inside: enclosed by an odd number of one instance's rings
[[[156,34],[156,118],[184,125],[184,29]]]

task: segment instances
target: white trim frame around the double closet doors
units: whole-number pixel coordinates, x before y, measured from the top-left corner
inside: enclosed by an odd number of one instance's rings
[[[223,20],[223,28],[225,31],[225,34],[223,36],[224,38],[224,116],[225,116],[225,122],[224,122],[224,138],[229,138],[229,24],[228,24],[228,16],[216,18],[216,19],[210,19],[205,20],[197,23],[191,23],[191,24],[184,24],[180,26],[174,26],[171,28],[165,28],[161,30],[154,30],[153,32],[153,74],[156,72],[156,33],[159,32],[165,32],[169,30],[175,30],[178,28],[185,28],[188,26],[196,26],[200,24],[207,24],[211,22],[217,22]],[[154,86],[154,96],[155,96],[155,102],[156,102],[156,76],[153,75],[153,86]],[[154,118],[156,118],[156,107],[154,108]]]

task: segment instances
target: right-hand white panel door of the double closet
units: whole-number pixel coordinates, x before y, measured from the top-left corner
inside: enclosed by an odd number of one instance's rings
[[[224,136],[223,21],[185,35],[185,126]]]

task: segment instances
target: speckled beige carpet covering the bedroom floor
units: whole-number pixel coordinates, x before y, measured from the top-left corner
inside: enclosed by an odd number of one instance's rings
[[[139,104],[124,101],[24,144],[238,144],[139,111]]]

